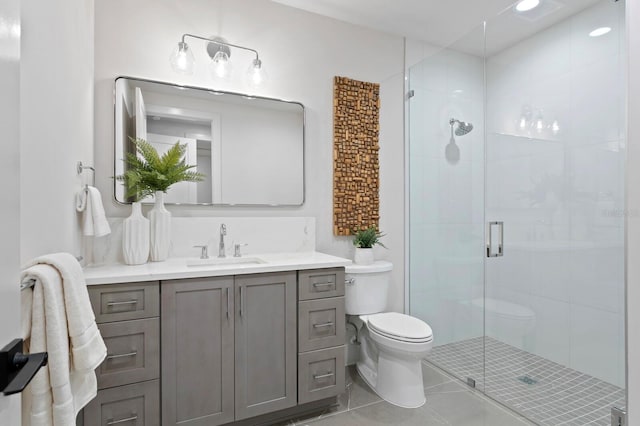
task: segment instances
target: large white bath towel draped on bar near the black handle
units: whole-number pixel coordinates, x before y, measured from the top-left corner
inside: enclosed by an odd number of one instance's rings
[[[23,425],[73,426],[97,393],[94,370],[107,349],[95,323],[82,268],[68,253],[29,262],[22,281],[35,279],[29,352],[48,352],[23,403]],[[23,298],[23,303],[24,298]],[[26,410],[26,411],[25,411]]]

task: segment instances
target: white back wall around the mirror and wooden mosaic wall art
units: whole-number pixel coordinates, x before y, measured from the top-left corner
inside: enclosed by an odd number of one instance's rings
[[[233,50],[233,77],[213,81],[204,44],[190,41],[193,76],[175,74],[169,55],[183,33],[221,35],[260,52],[269,83],[256,94],[299,101],[306,108],[306,201],[299,208],[170,207],[177,216],[313,216],[317,249],[352,257],[350,238],[332,234],[333,77],[381,83],[381,228],[394,262],[390,309],[403,310],[403,41],[266,0],[96,2],[95,158],[98,187],[110,216],[129,209],[112,201],[113,81],[120,75],[249,92],[244,71],[252,56]]]

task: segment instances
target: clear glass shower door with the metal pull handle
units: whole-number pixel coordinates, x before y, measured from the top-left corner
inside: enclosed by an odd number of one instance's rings
[[[624,406],[623,3],[486,27],[485,392],[544,425]]]

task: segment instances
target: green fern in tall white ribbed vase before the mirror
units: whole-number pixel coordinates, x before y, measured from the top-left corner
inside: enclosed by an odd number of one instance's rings
[[[176,142],[163,155],[144,139],[130,138],[135,152],[126,156],[127,170],[116,179],[124,182],[127,197],[139,201],[153,195],[155,204],[149,212],[150,254],[152,261],[162,261],[169,256],[171,243],[171,213],[164,206],[164,194],[178,182],[198,182],[204,178],[185,163],[186,144]],[[135,203],[134,203],[135,204]]]

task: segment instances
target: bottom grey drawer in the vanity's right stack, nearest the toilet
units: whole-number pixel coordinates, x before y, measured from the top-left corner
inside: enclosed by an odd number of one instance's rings
[[[344,392],[345,346],[298,355],[298,404]]]

